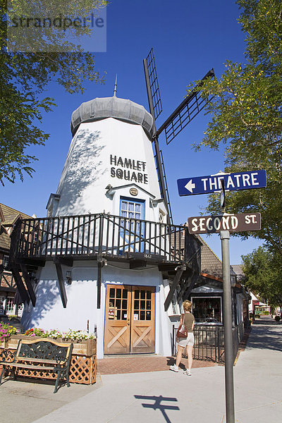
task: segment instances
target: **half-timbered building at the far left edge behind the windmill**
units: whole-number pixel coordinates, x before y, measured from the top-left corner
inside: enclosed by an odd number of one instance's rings
[[[8,271],[10,254],[10,235],[18,219],[28,219],[30,216],[0,203],[0,314],[20,316],[23,305],[14,302],[16,283],[11,271]]]

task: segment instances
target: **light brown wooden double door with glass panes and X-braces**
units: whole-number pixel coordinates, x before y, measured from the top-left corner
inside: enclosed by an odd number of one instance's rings
[[[154,287],[107,285],[104,353],[154,353],[154,314]]]

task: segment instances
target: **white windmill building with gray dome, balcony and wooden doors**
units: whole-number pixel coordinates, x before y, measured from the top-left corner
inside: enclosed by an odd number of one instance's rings
[[[20,295],[30,298],[22,323],[97,327],[98,358],[170,354],[171,300],[177,293],[180,301],[200,274],[201,243],[169,222],[153,118],[130,100],[98,98],[73,112],[71,130],[47,218],[23,219],[13,231],[12,271]]]

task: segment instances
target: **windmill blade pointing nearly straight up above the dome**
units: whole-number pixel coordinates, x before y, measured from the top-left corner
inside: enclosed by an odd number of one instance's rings
[[[150,50],[147,58],[143,60],[143,63],[150,113],[154,119],[157,119],[163,109],[161,105],[161,94],[159,92],[159,81],[157,77],[156,63],[154,61],[153,48]]]

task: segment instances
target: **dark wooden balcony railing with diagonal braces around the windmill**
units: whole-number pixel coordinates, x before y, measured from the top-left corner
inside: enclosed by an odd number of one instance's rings
[[[18,221],[11,235],[11,260],[100,255],[177,263],[197,261],[199,245],[185,226],[109,214],[56,216]]]

